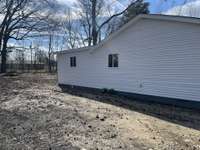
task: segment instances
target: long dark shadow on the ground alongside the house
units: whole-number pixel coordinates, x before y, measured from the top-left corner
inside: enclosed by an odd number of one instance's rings
[[[200,131],[199,110],[159,104],[156,102],[139,101],[133,98],[130,99],[116,94],[97,91],[94,92],[69,87],[61,87],[61,89],[64,93],[115,105]]]

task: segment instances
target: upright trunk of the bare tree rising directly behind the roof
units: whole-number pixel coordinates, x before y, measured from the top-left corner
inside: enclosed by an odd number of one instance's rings
[[[97,45],[97,22],[96,22],[96,0],[92,1],[92,39],[93,39],[93,45]]]

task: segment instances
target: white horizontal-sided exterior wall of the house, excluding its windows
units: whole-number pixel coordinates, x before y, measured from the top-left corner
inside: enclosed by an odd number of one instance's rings
[[[92,53],[58,54],[59,83],[200,101],[199,39],[198,25],[141,19]]]

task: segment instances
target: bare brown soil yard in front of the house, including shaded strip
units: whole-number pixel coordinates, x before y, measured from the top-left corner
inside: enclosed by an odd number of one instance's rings
[[[1,150],[200,150],[200,112],[0,76]]]

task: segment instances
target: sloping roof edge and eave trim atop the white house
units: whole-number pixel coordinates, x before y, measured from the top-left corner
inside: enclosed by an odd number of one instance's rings
[[[102,45],[104,45],[109,40],[113,39],[115,36],[132,26],[134,23],[137,23],[140,19],[151,19],[151,20],[161,20],[161,21],[173,21],[173,22],[182,22],[182,23],[191,23],[191,24],[199,24],[200,25],[200,18],[195,17],[184,17],[184,16],[174,16],[174,15],[158,15],[158,14],[141,14],[133,18],[131,21],[129,21],[127,24],[125,24],[123,27],[121,27],[116,32],[112,33],[110,36],[105,38],[103,41],[101,41],[96,46],[88,46],[88,47],[82,47],[78,49],[69,49],[64,51],[59,51],[56,53],[62,54],[62,53],[74,53],[74,52],[81,52],[81,51],[88,51],[91,52]]]

